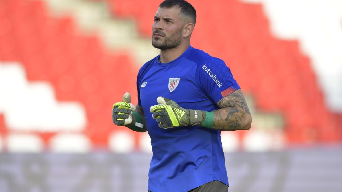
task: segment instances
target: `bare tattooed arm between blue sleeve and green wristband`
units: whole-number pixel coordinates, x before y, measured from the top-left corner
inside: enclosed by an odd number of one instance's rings
[[[240,89],[219,100],[217,105],[221,109],[213,111],[213,129],[235,131],[251,127],[252,116]]]

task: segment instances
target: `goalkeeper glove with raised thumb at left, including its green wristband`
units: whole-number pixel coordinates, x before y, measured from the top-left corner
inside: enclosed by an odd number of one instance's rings
[[[113,105],[111,117],[114,124],[126,126],[133,131],[143,129],[142,118],[139,113],[135,112],[135,106],[131,103],[131,95],[126,92],[122,100]]]

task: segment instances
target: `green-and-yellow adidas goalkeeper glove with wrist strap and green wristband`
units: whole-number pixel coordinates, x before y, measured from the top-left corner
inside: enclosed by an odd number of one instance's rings
[[[160,105],[152,106],[150,112],[160,128],[188,125],[211,128],[213,125],[213,112],[184,109],[175,101],[164,97],[158,97],[157,102]]]

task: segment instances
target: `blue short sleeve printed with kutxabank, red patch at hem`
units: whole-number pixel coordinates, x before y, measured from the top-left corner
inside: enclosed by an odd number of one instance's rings
[[[219,58],[198,65],[196,74],[201,89],[215,103],[240,88],[229,67]]]

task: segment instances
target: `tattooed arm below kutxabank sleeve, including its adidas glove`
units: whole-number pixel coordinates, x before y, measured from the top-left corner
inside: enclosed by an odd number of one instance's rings
[[[235,131],[248,130],[252,123],[251,113],[240,89],[219,100],[217,105],[221,109],[215,111],[184,109],[175,101],[161,96],[157,98],[157,102],[158,105],[151,106],[150,112],[160,128],[199,125],[222,131]]]

